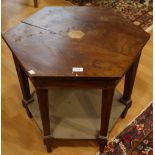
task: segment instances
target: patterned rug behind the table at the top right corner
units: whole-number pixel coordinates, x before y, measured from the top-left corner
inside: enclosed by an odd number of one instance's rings
[[[74,4],[81,1],[87,6],[112,8],[146,31],[153,25],[153,0],[71,0]]]

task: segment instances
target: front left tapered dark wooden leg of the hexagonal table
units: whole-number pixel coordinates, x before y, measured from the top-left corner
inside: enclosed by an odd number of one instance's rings
[[[51,152],[52,137],[50,135],[50,119],[49,119],[49,105],[48,105],[48,90],[36,89],[39,110],[42,120],[44,144],[47,147],[47,152]]]

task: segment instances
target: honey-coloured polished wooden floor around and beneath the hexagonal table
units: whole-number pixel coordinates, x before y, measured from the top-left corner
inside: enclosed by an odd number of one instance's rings
[[[12,5],[15,4],[12,2],[14,1],[4,1],[2,5],[3,14],[5,13],[4,16],[2,16],[2,18],[5,17],[5,20],[2,22],[2,29],[5,31],[36,11],[33,7],[29,6],[31,3],[28,3],[27,0],[16,1],[16,5]],[[43,1],[40,8],[45,5],[64,4],[64,1]],[[66,5],[68,5],[68,3],[66,3]],[[23,9],[21,10],[21,8]],[[119,89],[122,89],[122,87],[123,81],[121,81]],[[12,150],[14,150],[14,154],[16,155],[47,154],[41,142],[40,131],[31,120],[27,119],[20,104],[20,98],[21,93],[13,59],[6,44],[2,41],[2,154],[12,155]],[[141,56],[133,100],[134,103],[127,117],[117,123],[110,137],[116,136],[152,100],[152,37],[144,48]],[[67,141],[67,143],[66,141],[59,141],[55,142],[54,147],[58,147],[52,153],[54,155],[62,153],[66,155],[93,155],[98,150],[96,143],[93,141]]]

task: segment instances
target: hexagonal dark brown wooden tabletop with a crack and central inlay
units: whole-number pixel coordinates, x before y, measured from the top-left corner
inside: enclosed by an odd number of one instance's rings
[[[72,38],[69,33],[83,33]],[[30,77],[122,77],[149,39],[110,9],[46,7],[4,34]],[[73,72],[82,67],[83,72]]]

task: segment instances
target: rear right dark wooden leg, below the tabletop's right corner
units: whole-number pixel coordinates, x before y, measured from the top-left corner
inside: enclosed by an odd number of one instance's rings
[[[134,64],[129,68],[129,70],[125,75],[124,92],[123,92],[122,98],[120,99],[120,101],[126,106],[125,110],[121,115],[122,118],[125,118],[128,112],[128,109],[132,105],[131,94],[132,94],[133,85],[136,77],[139,59],[140,59],[140,56],[137,58]]]

